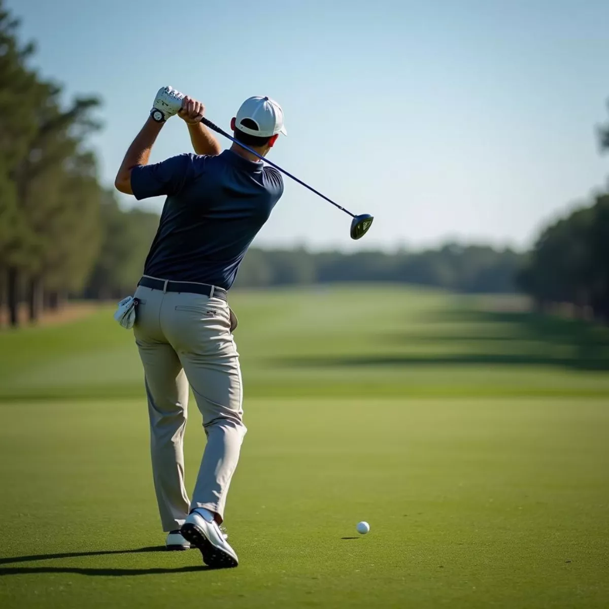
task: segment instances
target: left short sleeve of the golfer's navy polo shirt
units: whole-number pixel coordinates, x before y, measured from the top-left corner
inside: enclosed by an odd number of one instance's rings
[[[194,155],[181,154],[153,165],[138,165],[131,170],[131,189],[135,198],[148,199],[176,194],[193,175]]]

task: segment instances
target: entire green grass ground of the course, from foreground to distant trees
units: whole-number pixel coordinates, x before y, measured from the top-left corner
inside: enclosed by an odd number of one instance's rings
[[[395,287],[231,302],[239,568],[159,547],[139,361],[100,311],[0,334],[0,607],[609,605],[606,331]],[[192,403],[189,487],[203,443]]]

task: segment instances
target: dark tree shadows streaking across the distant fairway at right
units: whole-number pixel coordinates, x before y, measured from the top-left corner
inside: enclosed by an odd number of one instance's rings
[[[609,328],[532,312],[445,309],[418,317],[420,331],[399,331],[379,341],[390,353],[283,357],[283,367],[384,365],[545,365],[609,370]],[[446,343],[448,350],[443,349]],[[459,350],[459,343],[463,348]],[[435,353],[396,353],[396,345],[437,345]],[[457,347],[457,351],[455,351]]]

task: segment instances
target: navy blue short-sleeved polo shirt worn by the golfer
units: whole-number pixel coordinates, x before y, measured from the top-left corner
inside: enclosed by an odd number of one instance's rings
[[[131,188],[138,200],[167,195],[144,275],[228,289],[283,194],[283,179],[274,167],[225,150],[133,167]]]

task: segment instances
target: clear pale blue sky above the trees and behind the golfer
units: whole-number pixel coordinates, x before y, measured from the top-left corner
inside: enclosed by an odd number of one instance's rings
[[[198,97],[225,127],[261,94],[286,115],[272,160],[376,217],[351,242],[347,216],[286,178],[258,244],[529,245],[606,184],[594,125],[607,118],[607,0],[51,4],[8,2],[41,72],[103,97],[108,184],[160,86]],[[188,149],[172,119],[152,160]]]

